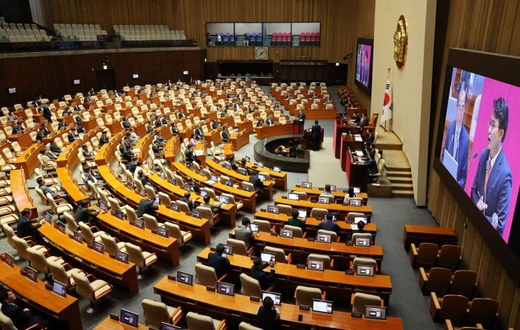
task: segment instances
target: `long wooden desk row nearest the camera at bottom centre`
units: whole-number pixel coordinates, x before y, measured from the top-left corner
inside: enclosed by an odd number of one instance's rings
[[[172,306],[181,306],[184,312],[193,311],[209,315],[218,320],[225,319],[233,327],[242,322],[255,324],[260,302],[251,301],[249,297],[235,294],[231,297],[206,290],[203,285],[184,285],[167,277],[154,285],[154,292],[161,296],[161,301]],[[369,320],[364,317],[352,317],[350,313],[334,311],[334,314],[313,313],[310,310],[299,310],[299,306],[282,303],[278,306],[282,324],[292,329],[309,329],[319,325],[320,329],[403,329],[401,318],[388,317],[387,320]],[[298,315],[303,315],[298,321]]]

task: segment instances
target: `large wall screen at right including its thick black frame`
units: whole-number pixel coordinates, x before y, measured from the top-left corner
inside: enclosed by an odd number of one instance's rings
[[[433,161],[461,211],[517,280],[519,66],[520,57],[450,49]]]

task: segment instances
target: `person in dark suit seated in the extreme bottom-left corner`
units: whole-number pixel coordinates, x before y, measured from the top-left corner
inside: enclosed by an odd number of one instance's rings
[[[13,321],[14,326],[17,329],[27,329],[34,324],[41,324],[46,329],[54,328],[57,324],[54,324],[52,320],[44,315],[32,313],[29,308],[22,308],[16,303],[16,296],[13,291],[6,290],[0,294],[0,303],[2,305],[2,313]]]

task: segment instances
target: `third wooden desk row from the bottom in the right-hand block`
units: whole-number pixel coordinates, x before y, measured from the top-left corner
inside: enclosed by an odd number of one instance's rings
[[[230,230],[230,237],[235,238],[235,228]],[[269,232],[258,232],[255,234],[251,245],[255,246],[255,251],[260,253],[265,246],[273,248],[281,248],[285,254],[292,253],[294,264],[306,264],[307,257],[311,253],[320,255],[328,255],[331,261],[334,260],[334,269],[347,270],[350,269],[350,261],[354,257],[369,257],[378,263],[381,269],[382,262],[382,246],[370,246],[368,248],[362,246],[348,246],[345,243],[321,243],[318,241],[308,241],[304,238],[274,236]]]

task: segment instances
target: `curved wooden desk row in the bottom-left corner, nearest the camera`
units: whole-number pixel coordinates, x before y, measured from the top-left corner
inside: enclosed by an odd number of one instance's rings
[[[16,294],[17,298],[28,303],[42,313],[52,315],[64,322],[70,330],[83,329],[80,304],[73,296],[65,298],[45,289],[45,282],[34,283],[20,273],[16,264],[13,268],[0,260],[0,282]]]

